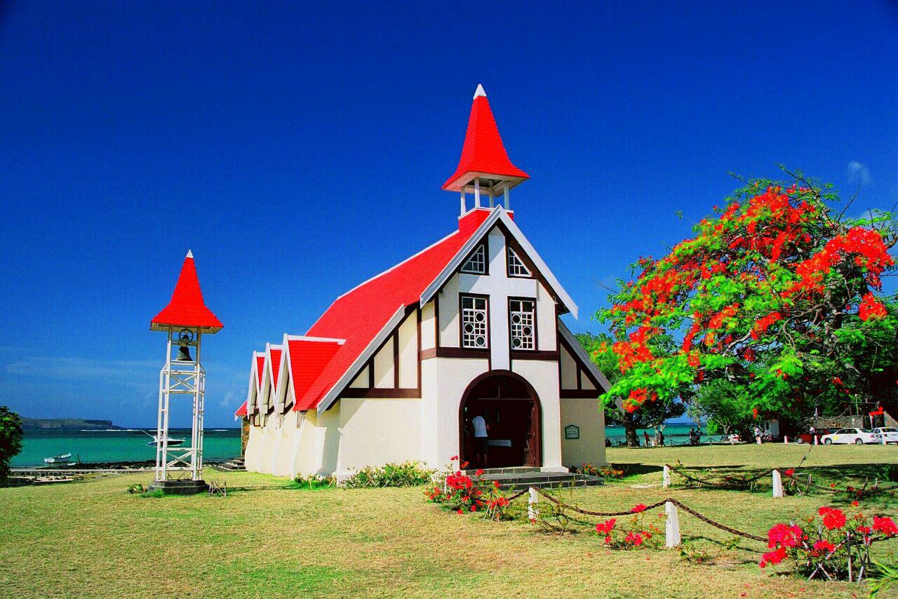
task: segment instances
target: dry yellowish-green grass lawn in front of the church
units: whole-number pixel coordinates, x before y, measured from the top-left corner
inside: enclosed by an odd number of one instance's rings
[[[662,489],[660,466],[813,471],[821,482],[863,484],[898,462],[898,447],[737,445],[608,450],[631,474],[603,487],[565,490],[568,503],[604,511],[665,497],[724,524],[764,535],[776,521],[846,498],[770,498],[763,491]],[[147,474],[0,489],[0,595],[130,596],[866,596],[855,585],[807,583],[761,570],[762,544],[680,515],[696,564],[680,551],[606,551],[595,533],[541,533],[524,521],[454,515],[422,489],[300,490],[268,475],[207,470],[228,498],[143,498],[128,484]],[[674,475],[674,482],[677,477]],[[882,479],[881,479],[882,480]],[[894,484],[894,483],[893,483]],[[654,486],[652,486],[654,485]],[[893,499],[869,510],[898,513]],[[880,557],[898,541],[880,543]]]

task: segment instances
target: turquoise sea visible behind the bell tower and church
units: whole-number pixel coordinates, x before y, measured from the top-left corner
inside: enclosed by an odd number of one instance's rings
[[[689,442],[691,425],[671,424],[665,427],[666,445],[685,445]],[[155,432],[154,430],[151,432]],[[642,443],[642,430],[638,431]],[[606,427],[605,435],[612,443],[623,440],[621,427]],[[648,430],[652,436],[653,431]],[[173,428],[170,436],[189,439],[190,430]],[[134,431],[72,431],[72,430],[27,430],[22,453],[13,458],[13,466],[43,465],[44,458],[51,455],[72,454],[71,462],[139,462],[154,460],[155,449],[146,442],[149,436],[139,430]],[[707,442],[708,436],[701,440]],[[204,437],[203,457],[207,461],[222,461],[240,455],[239,428],[207,428]]]

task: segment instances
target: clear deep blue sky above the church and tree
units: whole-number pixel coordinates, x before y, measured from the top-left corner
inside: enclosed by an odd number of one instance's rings
[[[361,4],[0,2],[0,403],[154,424],[192,249],[233,426],[252,349],[453,229],[478,83],[575,330],[729,171],[898,199],[894,3]]]

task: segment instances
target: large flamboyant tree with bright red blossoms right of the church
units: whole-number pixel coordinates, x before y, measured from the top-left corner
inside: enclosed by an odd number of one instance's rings
[[[831,186],[789,175],[745,181],[693,237],[619,281],[595,315],[615,339],[597,351],[621,373],[606,402],[635,411],[718,382],[758,418],[894,392],[898,305],[881,293],[893,215],[847,218]]]

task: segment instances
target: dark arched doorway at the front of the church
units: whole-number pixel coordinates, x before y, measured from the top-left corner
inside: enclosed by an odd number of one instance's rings
[[[478,463],[471,419],[489,425],[487,463]],[[542,407],[533,385],[510,370],[493,370],[471,381],[459,404],[459,457],[474,468],[542,465]]]

